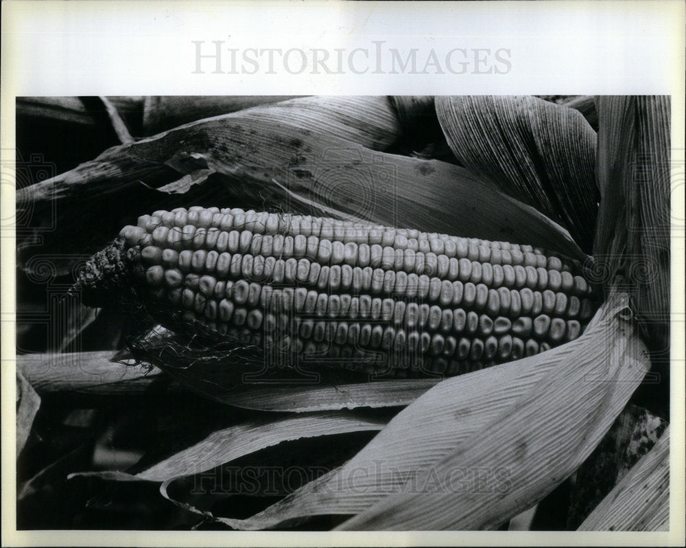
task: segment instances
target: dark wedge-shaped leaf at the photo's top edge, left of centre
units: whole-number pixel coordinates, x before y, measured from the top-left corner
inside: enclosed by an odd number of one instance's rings
[[[294,95],[150,95],[143,104],[142,135],[154,135],[203,118],[295,98]]]

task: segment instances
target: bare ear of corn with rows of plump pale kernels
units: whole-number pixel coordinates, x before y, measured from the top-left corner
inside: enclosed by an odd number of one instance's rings
[[[91,298],[132,272],[163,326],[287,365],[452,375],[576,339],[596,308],[578,271],[508,242],[191,207],[124,227],[78,286]]]

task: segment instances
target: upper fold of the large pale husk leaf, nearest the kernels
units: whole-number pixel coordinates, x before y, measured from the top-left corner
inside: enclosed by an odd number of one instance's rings
[[[514,367],[498,365],[445,380],[414,402],[412,413],[410,408],[401,411],[338,470],[248,521],[220,521],[238,529],[261,529],[302,516],[363,512],[389,494],[401,492],[418,470],[446,457],[453,448],[468,444],[556,363],[549,359],[545,363],[521,363],[521,367],[517,363]],[[485,396],[485,387],[490,397]]]

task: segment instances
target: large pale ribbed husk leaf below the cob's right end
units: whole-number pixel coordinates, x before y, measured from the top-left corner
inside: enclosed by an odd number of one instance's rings
[[[645,363],[639,341],[619,317],[623,309],[617,304],[606,306],[580,339],[549,352],[445,380],[401,411],[341,468],[252,518],[217,519],[236,529],[262,529],[320,514],[362,512],[364,518],[364,512],[397,497],[402,503],[393,512],[402,517],[396,521],[383,514],[387,521],[380,528],[405,528],[407,523],[408,529],[440,529],[452,525],[443,520],[460,518],[452,509],[462,504],[456,499],[464,497],[465,513],[472,504],[487,510],[497,506],[490,519],[499,525],[534,505],[543,490],[552,490],[573,472],[640,382]],[[560,442],[558,435],[565,441]],[[584,437],[586,441],[580,442]],[[546,468],[547,459],[551,462],[547,466],[558,459],[556,470]],[[493,490],[488,496],[481,494],[488,501],[475,501],[473,492],[461,488],[434,494],[449,499],[438,504],[425,501],[423,496],[431,495],[419,488],[449,472],[446,463],[451,470],[464,472],[456,478],[462,487],[465,481],[467,487],[469,481],[489,481],[492,488],[493,481],[500,479],[501,487],[516,488],[520,498],[515,502],[509,493]],[[506,475],[486,479],[474,475],[484,468],[503,470]],[[518,476],[525,472],[528,477],[520,482]],[[427,478],[427,473],[434,477]],[[537,482],[543,483],[542,489]],[[418,499],[405,501],[412,493]],[[499,497],[507,503],[496,500]],[[351,524],[350,528],[357,528],[355,521]],[[375,525],[376,521],[365,522],[362,528]]]

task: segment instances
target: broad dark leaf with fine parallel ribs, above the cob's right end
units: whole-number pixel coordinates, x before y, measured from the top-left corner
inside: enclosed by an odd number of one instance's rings
[[[436,112],[462,165],[556,220],[591,250],[596,135],[580,113],[530,96],[438,97]]]

